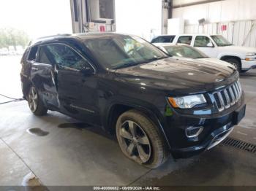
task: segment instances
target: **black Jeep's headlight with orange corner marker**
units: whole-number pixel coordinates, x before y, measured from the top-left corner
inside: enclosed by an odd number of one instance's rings
[[[172,104],[172,106],[175,108],[189,109],[198,104],[205,104],[206,98],[203,96],[203,94],[198,94],[176,98],[169,97],[168,101],[170,101],[170,104]]]

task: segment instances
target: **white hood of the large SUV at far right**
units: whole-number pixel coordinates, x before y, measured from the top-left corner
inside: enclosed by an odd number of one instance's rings
[[[255,47],[242,47],[242,46],[226,46],[226,47],[218,47],[219,51],[222,52],[224,51],[225,53],[237,53],[240,55],[246,55],[248,52],[255,52],[256,53],[256,48]]]

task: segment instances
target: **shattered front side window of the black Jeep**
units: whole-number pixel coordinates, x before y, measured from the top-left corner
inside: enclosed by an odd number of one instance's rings
[[[85,66],[89,66],[89,63],[78,55],[75,50],[64,44],[49,44],[46,45],[47,50],[53,57],[53,62],[66,66],[72,69],[83,69]],[[89,66],[90,67],[90,66]]]

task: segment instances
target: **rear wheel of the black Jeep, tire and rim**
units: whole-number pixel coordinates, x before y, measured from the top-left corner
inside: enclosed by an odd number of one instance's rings
[[[29,109],[31,112],[37,116],[45,115],[48,111],[48,109],[43,104],[39,93],[37,91],[37,88],[33,85],[29,89],[28,93],[28,103],[29,103]]]

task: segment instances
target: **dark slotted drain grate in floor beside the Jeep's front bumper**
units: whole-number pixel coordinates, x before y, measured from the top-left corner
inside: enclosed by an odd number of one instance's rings
[[[242,149],[251,153],[256,152],[256,145],[255,144],[250,144],[246,143],[244,141],[240,141],[237,139],[233,139],[230,137],[227,137],[224,141],[222,141],[222,144],[228,145],[230,147],[236,147],[237,149]]]

